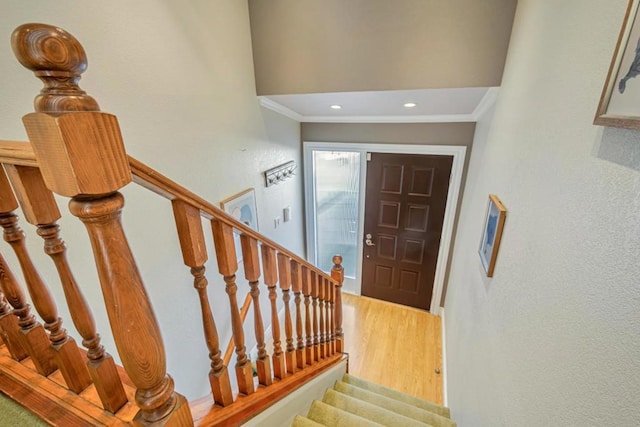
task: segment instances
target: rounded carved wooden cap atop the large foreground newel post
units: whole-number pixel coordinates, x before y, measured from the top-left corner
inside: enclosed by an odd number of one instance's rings
[[[11,35],[11,47],[18,61],[44,82],[34,100],[36,111],[100,111],[78,86],[87,55],[71,34],[53,25],[24,24]]]

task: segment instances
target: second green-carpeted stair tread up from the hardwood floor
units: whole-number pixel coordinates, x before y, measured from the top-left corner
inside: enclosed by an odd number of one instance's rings
[[[399,400],[392,399],[390,397],[365,390],[351,384],[347,384],[343,381],[336,381],[336,384],[333,388],[334,390],[349,395],[355,399],[362,400],[377,407],[404,415],[406,417],[432,425],[434,427],[456,426],[455,422],[453,422],[449,418],[443,417],[442,415],[438,415],[426,409],[419,408],[417,406],[410,405],[408,403],[401,402]]]

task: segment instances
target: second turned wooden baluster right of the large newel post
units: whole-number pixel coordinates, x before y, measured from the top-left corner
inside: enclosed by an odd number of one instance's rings
[[[238,380],[238,390],[242,394],[249,395],[254,392],[253,372],[251,362],[247,357],[244,345],[244,331],[242,328],[242,318],[238,308],[236,293],[236,271],[238,270],[238,260],[236,257],[235,243],[233,242],[233,229],[231,226],[218,221],[211,221],[213,231],[213,242],[216,247],[216,258],[218,260],[218,271],[224,277],[226,292],[229,296],[229,308],[231,310],[231,328],[233,329],[233,342],[236,346],[236,377]]]

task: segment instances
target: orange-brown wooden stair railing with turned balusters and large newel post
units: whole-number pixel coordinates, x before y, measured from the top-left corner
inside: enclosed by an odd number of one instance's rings
[[[116,116],[102,112],[78,86],[87,58],[73,35],[25,24],[11,43],[18,61],[44,88],[35,98],[36,111],[23,117],[29,141],[0,140],[0,231],[6,242],[0,245],[1,394],[51,425],[236,426],[346,364],[342,257],[333,257],[327,274],[128,156]],[[127,185],[139,185],[171,207],[175,229],[161,234],[177,237],[175,257],[190,273],[187,283],[160,278],[145,285],[120,219],[125,206],[120,190]],[[67,199],[68,211],[55,196]],[[85,226],[92,253],[83,262],[95,263],[99,283],[77,283],[61,237],[63,213]],[[45,261],[55,266],[54,271],[49,265],[52,273],[46,276],[26,244],[23,222],[36,229],[32,238],[47,255],[40,259],[50,258]],[[209,260],[211,246],[215,256]],[[13,263],[4,256],[9,251]],[[210,300],[210,281],[222,285],[226,295]],[[56,301],[48,282],[60,286],[64,298]],[[96,324],[82,292],[88,286],[102,294],[108,325]],[[242,310],[240,286],[250,295]],[[147,289],[162,288],[194,292],[197,302],[187,313],[156,311]],[[268,295],[264,315],[260,294]],[[59,316],[59,304],[66,304],[69,319]],[[249,305],[253,322],[244,324]],[[157,314],[170,320],[181,316],[188,332],[202,330],[209,360],[198,366],[208,371],[210,385],[204,396],[187,400],[176,389],[166,351],[175,343],[163,341]],[[70,323],[78,337],[67,332]],[[102,344],[100,328],[110,328],[114,349]],[[221,337],[229,335],[231,350],[223,357]],[[247,352],[253,338],[255,376]],[[184,350],[180,361],[190,366],[192,349]]]

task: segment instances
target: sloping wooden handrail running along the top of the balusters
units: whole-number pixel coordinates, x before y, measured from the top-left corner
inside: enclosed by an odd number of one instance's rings
[[[279,245],[273,240],[265,237],[264,235],[256,232],[248,225],[238,221],[219,207],[208,202],[197,194],[187,190],[180,184],[172,181],[170,178],[162,175],[153,168],[147,166],[143,162],[129,157],[129,166],[131,167],[131,173],[133,175],[133,181],[138,185],[153,191],[154,193],[168,199],[180,199],[185,203],[200,210],[200,214],[207,219],[217,219],[236,230],[256,239],[257,241],[271,246],[273,249],[281,254],[286,255],[292,260],[297,261],[300,265],[307,267],[309,270],[314,271],[316,274],[331,280],[331,276],[313,264],[309,263],[300,256],[294,254],[287,248]],[[0,163],[10,163],[14,165],[22,166],[38,166],[35,153],[31,144],[25,141],[4,141],[0,140]]]

